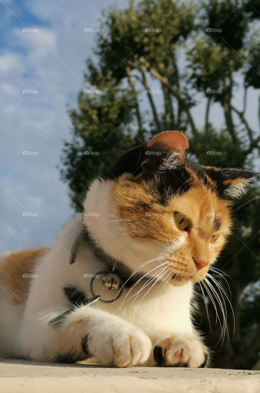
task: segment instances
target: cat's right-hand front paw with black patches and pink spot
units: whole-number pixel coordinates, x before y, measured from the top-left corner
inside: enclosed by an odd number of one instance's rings
[[[154,360],[165,367],[206,367],[207,347],[192,335],[176,335],[159,340],[154,347]]]

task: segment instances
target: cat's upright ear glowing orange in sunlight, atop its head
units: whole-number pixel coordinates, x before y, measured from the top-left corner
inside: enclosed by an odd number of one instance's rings
[[[159,164],[160,170],[175,169],[185,165],[189,143],[183,132],[165,131],[147,143],[146,155],[152,166]]]

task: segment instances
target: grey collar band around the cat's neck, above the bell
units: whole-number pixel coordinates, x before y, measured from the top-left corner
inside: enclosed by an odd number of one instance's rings
[[[122,280],[123,284],[126,286],[126,288],[132,286],[134,283],[136,283],[139,279],[141,279],[143,277],[143,275],[140,273],[133,274],[133,272],[130,268],[125,266],[118,259],[107,254],[103,250],[103,248],[97,246],[95,240],[91,237],[91,235],[88,231],[88,228],[86,227],[86,224],[83,221],[83,214],[82,214],[81,230],[77,234],[77,236],[71,246],[71,252],[70,252],[70,264],[71,265],[76,261],[77,252],[79,250],[79,245],[82,243],[88,244],[88,246],[90,247],[90,249],[94,253],[95,257],[97,257],[99,260],[101,260],[103,262],[104,266],[106,266],[108,268],[108,270],[119,275],[119,277],[121,278],[121,280]]]

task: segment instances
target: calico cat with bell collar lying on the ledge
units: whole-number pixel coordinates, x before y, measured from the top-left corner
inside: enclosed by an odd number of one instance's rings
[[[207,366],[192,325],[194,283],[256,174],[198,165],[187,149],[182,132],[168,131],[126,151],[51,248],[1,254],[0,356]]]

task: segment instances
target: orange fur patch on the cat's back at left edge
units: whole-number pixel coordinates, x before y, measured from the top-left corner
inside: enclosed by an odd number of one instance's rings
[[[12,252],[0,264],[2,285],[8,288],[14,305],[25,305],[35,263],[48,250],[45,247]]]

